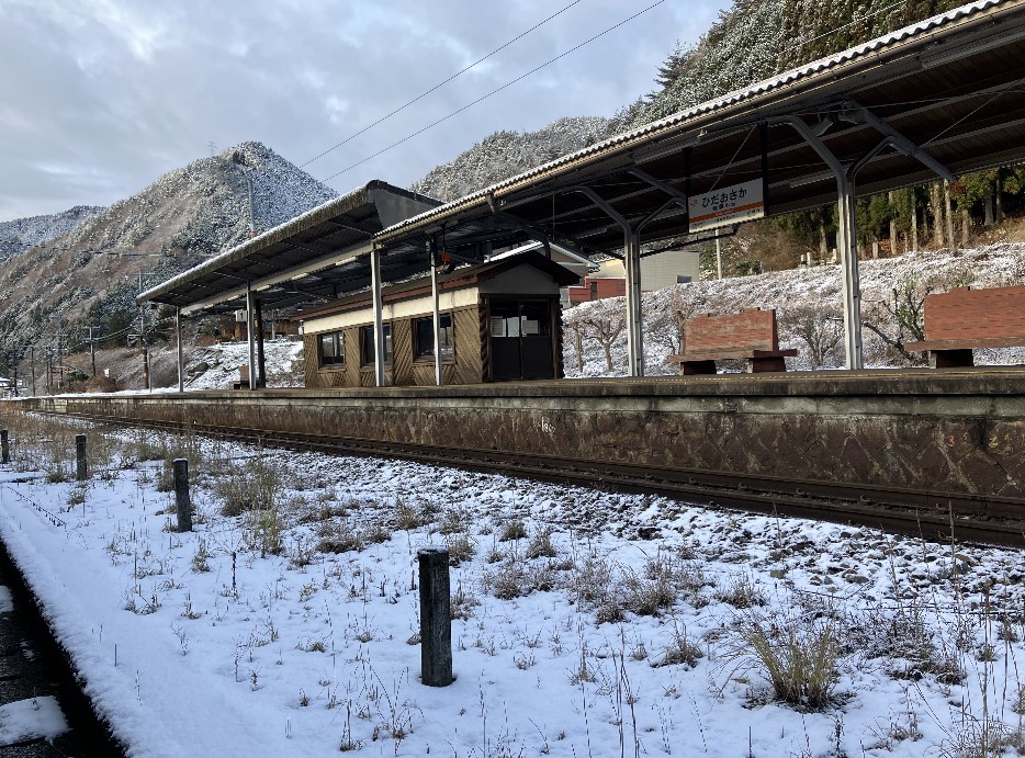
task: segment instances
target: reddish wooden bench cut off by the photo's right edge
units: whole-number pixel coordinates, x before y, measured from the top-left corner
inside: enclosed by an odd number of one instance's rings
[[[925,339],[909,352],[928,352],[936,369],[975,365],[976,348],[1025,347],[1025,286],[957,287],[925,297]]]

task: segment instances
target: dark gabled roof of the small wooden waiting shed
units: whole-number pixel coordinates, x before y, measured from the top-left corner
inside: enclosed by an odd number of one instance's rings
[[[554,262],[550,258],[536,250],[525,250],[516,256],[499,258],[498,260],[476,263],[474,265],[464,265],[447,274],[438,276],[438,289],[442,292],[452,290],[462,290],[464,287],[475,286],[481,282],[495,279],[499,274],[511,271],[521,265],[532,265],[540,271],[549,274],[552,281],[559,286],[570,286],[581,281],[581,278],[563,265]],[[431,292],[430,276],[420,276],[397,284],[392,284],[381,289],[381,296],[385,303],[414,297],[423,297]],[[328,303],[323,307],[307,310],[303,314],[304,319],[320,318],[336,313],[352,310],[356,307],[369,306],[372,295],[369,291],[359,292],[348,297]]]

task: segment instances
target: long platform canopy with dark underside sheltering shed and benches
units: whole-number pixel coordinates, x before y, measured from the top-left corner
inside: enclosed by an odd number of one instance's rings
[[[269,307],[334,297],[427,271],[427,247],[457,260],[529,239],[624,257],[631,375],[643,375],[640,263],[696,231],[689,202],[759,185],[773,216],[838,201],[848,367],[860,367],[855,195],[1025,160],[1025,0],[980,0],[564,156],[457,201],[405,193],[390,223],[326,233],[334,210],[369,207],[374,182],[140,295],[189,310],[259,291]],[[387,188],[388,193],[403,193]],[[333,210],[334,208],[334,210]],[[316,224],[312,220],[318,219]],[[304,220],[307,219],[307,220]],[[351,220],[348,216],[340,224]],[[378,223],[382,228],[378,229]],[[716,225],[712,224],[712,227]],[[357,234],[347,231],[347,234]],[[641,246],[646,246],[642,252]],[[328,253],[335,256],[330,258]],[[303,257],[305,256],[305,260]],[[291,267],[291,268],[290,268]],[[234,302],[238,302],[237,297]],[[215,304],[216,303],[216,304]]]

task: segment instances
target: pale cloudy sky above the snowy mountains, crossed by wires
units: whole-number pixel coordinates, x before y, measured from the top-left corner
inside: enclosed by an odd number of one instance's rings
[[[486,101],[349,169],[631,15]],[[498,129],[611,115],[729,0],[0,0],[0,220],[109,205],[248,139],[408,185]],[[346,170],[349,169],[349,170]],[[330,179],[328,179],[330,178]]]

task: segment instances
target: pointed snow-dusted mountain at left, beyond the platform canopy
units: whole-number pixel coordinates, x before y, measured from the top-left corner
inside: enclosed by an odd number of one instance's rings
[[[249,237],[250,181],[257,233],[337,194],[255,142],[170,171],[0,264],[0,359],[30,346],[56,350],[58,331],[64,352],[81,349],[85,326],[99,327],[101,347],[123,343],[140,272],[150,286]],[[30,222],[10,224],[41,226]]]

